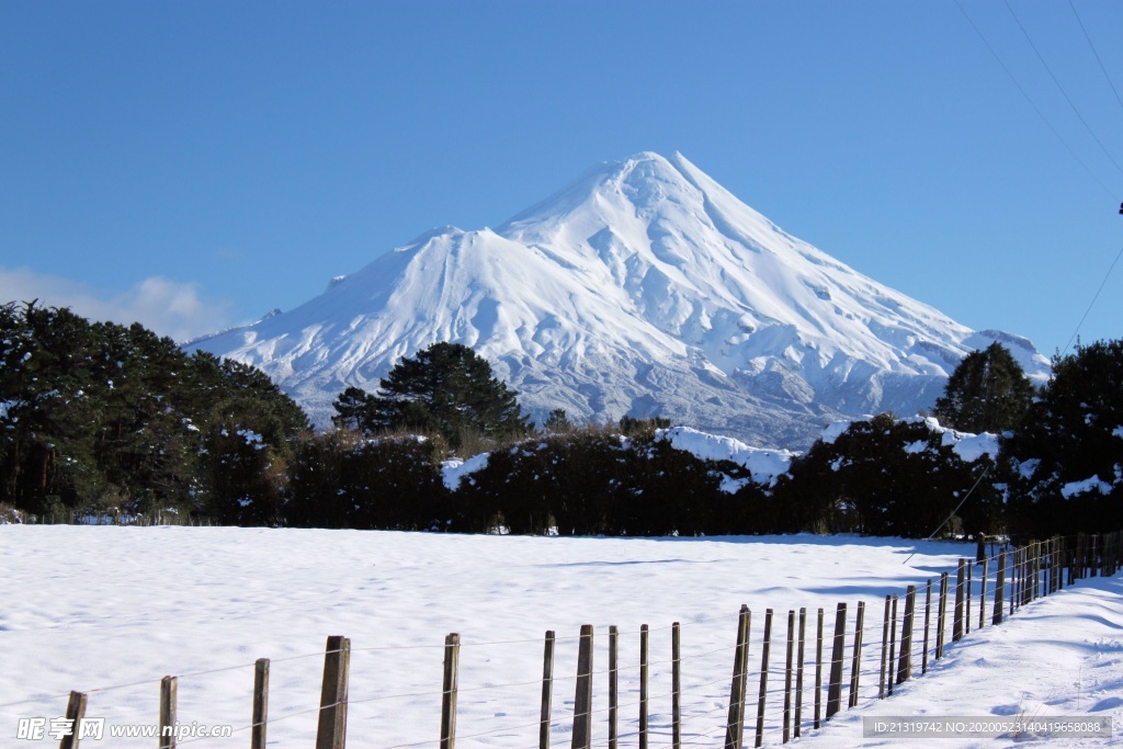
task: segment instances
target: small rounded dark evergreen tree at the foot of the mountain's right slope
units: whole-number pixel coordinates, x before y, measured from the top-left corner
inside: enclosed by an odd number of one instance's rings
[[[934,413],[960,431],[1001,433],[1017,426],[1034,392],[1021,365],[994,342],[964,357],[935,401]]]

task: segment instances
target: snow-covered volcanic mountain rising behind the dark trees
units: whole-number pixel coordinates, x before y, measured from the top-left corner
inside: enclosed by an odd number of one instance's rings
[[[993,340],[796,239],[679,154],[596,166],[500,228],[422,235],[316,299],[193,341],[261,367],[325,423],[435,341],[486,357],[542,418],[666,415],[802,447],[832,419],[930,408]]]

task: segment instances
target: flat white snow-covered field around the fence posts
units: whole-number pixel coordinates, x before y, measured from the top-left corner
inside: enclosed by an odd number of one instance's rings
[[[911,558],[910,555],[913,555]],[[442,643],[459,632],[458,747],[538,746],[542,634],[558,637],[554,746],[568,746],[576,636],[594,624],[594,746],[606,745],[608,627],[620,628],[621,746],[637,746],[639,629],[651,628],[651,746],[670,743],[670,629],[682,623],[683,736],[721,746],[737,614],[752,610],[749,728],[765,609],[776,610],[766,745],[780,741],[787,611],[809,610],[801,746],[909,746],[862,739],[861,715],[1123,716],[1123,584],[1085,579],[1001,627],[950,645],[929,673],[878,701],[882,606],[953,569],[973,547],[814,536],[570,539],[234,528],[0,527],[0,745],[20,719],[56,718],[90,694],[107,736],[83,747],[150,747],[108,727],[154,724],[159,679],[177,675],[181,724],[250,722],[256,658],[272,659],[271,746],[311,746],[327,636],[351,641],[348,739],[387,749],[437,743]],[[977,623],[977,596],[973,618]],[[821,731],[812,714],[815,610],[866,601],[859,709]],[[934,619],[934,618],[933,618]],[[914,669],[920,670],[917,619]],[[934,627],[934,621],[933,621]],[[950,640],[950,623],[948,627]],[[934,638],[934,631],[933,631]],[[828,646],[829,647],[829,646]],[[849,650],[846,676],[849,678]],[[847,693],[843,692],[843,702]],[[825,701],[825,695],[824,695]],[[248,743],[231,739],[181,746]],[[1050,740],[1102,746],[1116,740]],[[1006,746],[1011,739],[940,740]],[[935,746],[933,743],[933,746]]]

